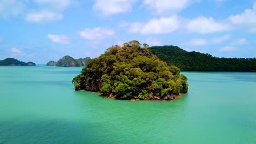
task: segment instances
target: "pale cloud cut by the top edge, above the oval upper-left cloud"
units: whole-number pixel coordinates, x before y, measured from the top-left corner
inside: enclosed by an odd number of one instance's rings
[[[71,0],[34,0],[37,4],[47,7],[49,9],[63,10],[70,4]]]

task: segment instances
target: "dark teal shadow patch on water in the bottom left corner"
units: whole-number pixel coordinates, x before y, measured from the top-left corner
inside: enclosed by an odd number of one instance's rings
[[[79,143],[88,133],[83,125],[60,120],[0,124],[0,143]]]

